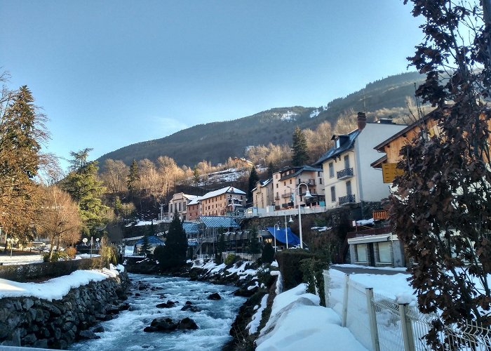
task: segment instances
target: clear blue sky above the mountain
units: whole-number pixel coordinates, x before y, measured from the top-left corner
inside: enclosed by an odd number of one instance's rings
[[[410,6],[349,1],[0,0],[0,67],[92,159],[189,126],[318,107],[406,72]]]

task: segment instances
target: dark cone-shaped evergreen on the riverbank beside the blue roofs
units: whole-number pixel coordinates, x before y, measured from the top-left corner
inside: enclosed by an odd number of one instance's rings
[[[158,253],[156,260],[164,268],[180,267],[186,263],[187,235],[177,212],[170,223],[166,246],[163,246]]]

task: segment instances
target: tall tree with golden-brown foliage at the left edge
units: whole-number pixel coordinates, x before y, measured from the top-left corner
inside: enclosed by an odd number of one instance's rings
[[[34,178],[43,164],[41,143],[48,134],[33,102],[27,86],[17,92],[1,91],[0,227],[4,232],[28,233],[41,197]]]

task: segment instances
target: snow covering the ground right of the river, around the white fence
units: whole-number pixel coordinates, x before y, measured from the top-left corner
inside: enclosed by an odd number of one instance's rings
[[[342,267],[351,267],[342,265]],[[274,274],[274,271],[271,272]],[[330,270],[330,298],[342,301],[345,274]],[[350,274],[350,279],[372,287],[375,293],[415,305],[408,274]],[[256,350],[366,350],[347,328],[341,326],[340,308],[321,307],[318,296],[305,293],[305,284],[285,291],[274,299],[271,317],[261,330]],[[258,306],[258,309],[260,306]],[[260,324],[259,316],[251,328]],[[334,340],[326,343],[327,340]]]

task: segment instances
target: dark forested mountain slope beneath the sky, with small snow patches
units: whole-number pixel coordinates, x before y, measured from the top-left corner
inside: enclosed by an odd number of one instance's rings
[[[217,164],[229,157],[243,157],[250,145],[290,144],[295,126],[314,129],[323,121],[335,124],[340,116],[350,112],[365,111],[369,120],[401,119],[408,115],[406,100],[414,96],[415,84],[420,81],[422,77],[416,72],[398,74],[369,83],[323,107],[280,107],[233,121],[199,124],[165,138],[122,147],[98,161],[103,164],[105,159],[119,159],[129,165],[133,159],[154,161],[166,155],[180,166],[192,167],[203,160]]]

